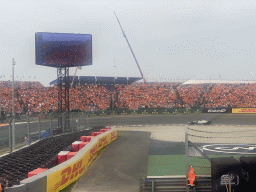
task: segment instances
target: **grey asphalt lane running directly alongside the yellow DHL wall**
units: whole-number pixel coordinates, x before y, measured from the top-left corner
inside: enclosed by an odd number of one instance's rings
[[[139,191],[139,179],[147,176],[150,133],[119,131],[118,135],[71,191]]]

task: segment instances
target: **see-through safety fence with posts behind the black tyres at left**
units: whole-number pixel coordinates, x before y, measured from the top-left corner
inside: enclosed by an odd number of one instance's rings
[[[1,124],[0,155],[59,134],[90,128],[85,112],[31,113],[8,117]]]

